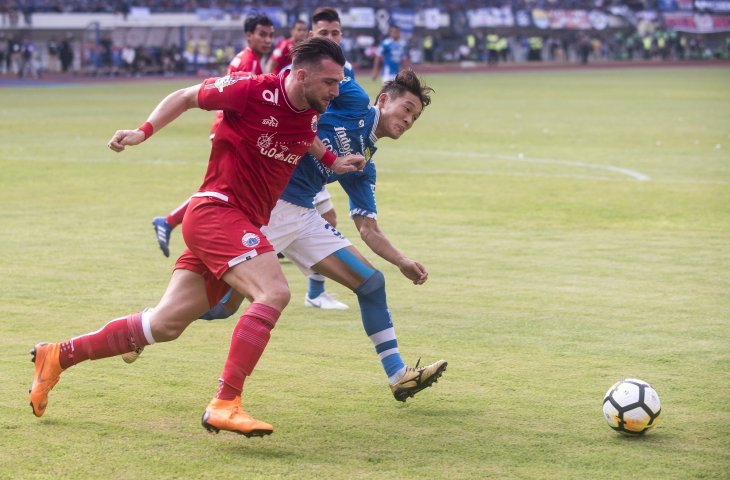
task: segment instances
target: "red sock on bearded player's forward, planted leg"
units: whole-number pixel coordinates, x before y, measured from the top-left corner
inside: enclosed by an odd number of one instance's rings
[[[275,308],[263,303],[252,303],[238,319],[236,328],[233,329],[231,348],[223,367],[217,398],[233,400],[241,395],[243,382],[251,375],[264,353],[279,315],[281,312]]]

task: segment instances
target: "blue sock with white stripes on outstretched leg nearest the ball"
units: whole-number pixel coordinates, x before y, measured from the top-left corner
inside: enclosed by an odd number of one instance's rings
[[[355,294],[360,303],[365,333],[375,345],[388,381],[394,383],[402,375],[406,365],[398,350],[398,340],[386,302],[385,277],[378,270],[373,270],[372,275],[355,289]]]

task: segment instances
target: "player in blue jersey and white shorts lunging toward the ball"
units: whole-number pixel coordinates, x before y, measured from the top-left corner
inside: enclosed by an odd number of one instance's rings
[[[283,252],[305,275],[319,272],[351,289],[360,304],[363,327],[388,377],[396,400],[405,401],[431,386],[446,369],[439,360],[418,368],[401,358],[388,309],[385,278],[340,232],[314,208],[314,197],[324,185],[339,182],[350,200],[350,216],[370,249],[397,266],[415,285],[428,280],[428,271],[408,258],[380,230],[375,203],[376,170],[372,157],[379,138],[398,139],[431,103],[432,89],[411,70],[404,70],[383,85],[375,105],[350,78],[340,83],[341,105],[330,104],[320,117],[318,137],[322,152],[302,157],[284,193],[263,228],[277,252]],[[359,172],[337,175],[317,158],[363,155],[367,163]]]

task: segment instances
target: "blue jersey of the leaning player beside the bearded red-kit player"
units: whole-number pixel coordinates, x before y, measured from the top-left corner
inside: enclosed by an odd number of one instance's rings
[[[314,196],[328,183],[339,181],[350,199],[350,215],[376,218],[375,207],[375,128],[380,111],[370,106],[370,98],[351,78],[340,83],[338,103],[331,103],[319,117],[317,136],[325,146],[341,157],[359,153],[367,160],[358,172],[338,175],[310,154],[299,160],[281,199],[305,208],[314,208]]]

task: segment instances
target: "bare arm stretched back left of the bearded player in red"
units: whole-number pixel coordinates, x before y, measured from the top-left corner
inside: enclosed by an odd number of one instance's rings
[[[182,115],[186,110],[198,107],[198,91],[200,85],[183,88],[165,97],[150,116],[147,122],[151,132],[161,130],[165,125]],[[150,132],[150,134],[151,134]],[[137,128],[134,130],[117,130],[107,146],[115,152],[121,152],[127,145],[139,145],[148,138],[148,134]]]

